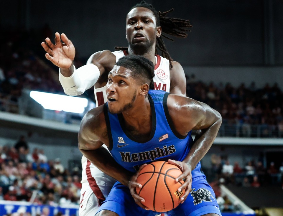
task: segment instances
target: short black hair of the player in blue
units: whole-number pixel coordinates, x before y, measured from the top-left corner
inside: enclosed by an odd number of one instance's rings
[[[154,65],[141,55],[126,55],[116,62],[117,66],[128,68],[132,71],[131,76],[147,83],[150,89],[154,89]]]

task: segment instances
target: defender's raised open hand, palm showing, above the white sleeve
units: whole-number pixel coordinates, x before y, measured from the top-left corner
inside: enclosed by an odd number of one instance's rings
[[[64,33],[61,37],[58,32],[55,33],[55,44],[47,37],[41,46],[46,52],[45,57],[57,67],[68,69],[72,65],[75,47]]]

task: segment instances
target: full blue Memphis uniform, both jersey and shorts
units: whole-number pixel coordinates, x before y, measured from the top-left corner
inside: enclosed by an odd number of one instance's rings
[[[107,103],[104,105],[105,120],[109,137],[109,150],[121,166],[136,172],[140,165],[155,160],[174,159],[183,161],[193,143],[191,131],[182,136],[174,129],[167,108],[169,93],[159,90],[149,91],[152,111],[152,131],[147,141],[139,142],[126,130],[121,115],[111,114]],[[109,210],[118,215],[146,215],[157,213],[136,205],[129,187],[116,182],[99,211]],[[99,212],[98,211],[98,212]],[[200,216],[215,213],[221,215],[213,189],[201,172],[200,163],[192,170],[192,191],[183,204],[167,212],[172,216]]]

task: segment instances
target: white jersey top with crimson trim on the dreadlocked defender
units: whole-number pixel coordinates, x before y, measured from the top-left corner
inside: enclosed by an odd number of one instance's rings
[[[127,55],[126,51],[114,51],[112,52],[116,56],[116,62],[121,57]],[[159,55],[155,56],[156,65],[154,66],[154,90],[170,91],[170,64],[169,60]],[[96,100],[96,107],[106,103],[106,85],[101,88],[94,88],[94,95]]]

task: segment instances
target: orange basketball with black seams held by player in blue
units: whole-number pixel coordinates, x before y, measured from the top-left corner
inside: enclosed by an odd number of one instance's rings
[[[166,161],[155,161],[145,166],[139,173],[136,182],[142,185],[136,187],[137,194],[144,198],[143,205],[155,212],[167,212],[180,204],[180,198],[185,193],[178,188],[184,183],[175,179],[182,174],[179,167]]]

